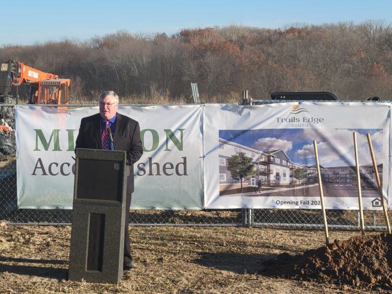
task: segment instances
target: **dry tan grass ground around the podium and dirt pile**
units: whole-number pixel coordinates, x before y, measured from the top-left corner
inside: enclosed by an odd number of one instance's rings
[[[387,293],[266,277],[263,261],[321,247],[324,232],[239,227],[130,227],[136,269],[117,285],[70,282],[70,231],[0,222],[0,293]]]

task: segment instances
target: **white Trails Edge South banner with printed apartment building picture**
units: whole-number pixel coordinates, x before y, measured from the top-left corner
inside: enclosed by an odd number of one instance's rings
[[[389,103],[206,105],[203,121],[206,208],[321,208],[314,143],[326,209],[358,209],[358,182],[381,209],[377,172],[390,203]]]

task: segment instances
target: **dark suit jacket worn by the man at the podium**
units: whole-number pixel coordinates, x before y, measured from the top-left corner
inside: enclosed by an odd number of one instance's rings
[[[127,194],[134,191],[133,164],[143,154],[140,139],[139,123],[117,112],[115,121],[116,130],[113,134],[114,150],[127,152],[127,164],[130,166],[130,175],[127,179]],[[78,148],[102,149],[101,115],[99,113],[82,118],[79,134],[76,138],[75,150]]]

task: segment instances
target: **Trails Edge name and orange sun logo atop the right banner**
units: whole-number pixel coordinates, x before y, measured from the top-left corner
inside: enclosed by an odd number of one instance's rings
[[[291,128],[310,128],[312,125],[322,124],[325,121],[324,117],[307,115],[307,113],[310,114],[310,111],[305,107],[300,107],[299,104],[293,105],[289,113],[292,115],[288,117],[276,117],[276,121],[279,124],[291,122]]]

